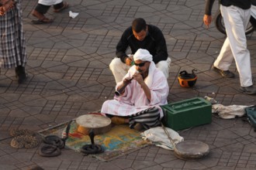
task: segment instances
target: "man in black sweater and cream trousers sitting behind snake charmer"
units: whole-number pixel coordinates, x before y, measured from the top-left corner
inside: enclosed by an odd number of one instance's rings
[[[134,19],[132,26],[123,32],[116,46],[116,58],[112,59],[109,68],[115,76],[116,83],[123,79],[133,63],[132,55],[127,55],[130,47],[132,54],[137,49],[147,49],[153,55],[157,68],[168,78],[171,59],[168,58],[164,35],[157,26],[147,25],[144,19]]]

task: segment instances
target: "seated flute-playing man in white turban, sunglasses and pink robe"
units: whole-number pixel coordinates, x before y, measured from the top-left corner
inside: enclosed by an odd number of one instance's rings
[[[116,84],[116,90],[127,86],[114,100],[106,100],[101,112],[112,117],[113,124],[130,124],[130,128],[138,125],[137,129],[159,126],[163,117],[160,105],[167,104],[167,79],[157,70],[147,49],[138,49],[133,59],[134,66]]]

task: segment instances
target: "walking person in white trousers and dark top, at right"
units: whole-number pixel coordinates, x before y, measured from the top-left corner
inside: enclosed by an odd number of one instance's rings
[[[203,22],[207,27],[212,22],[213,2],[214,0],[206,0]],[[251,16],[251,0],[220,0],[220,12],[226,27],[227,39],[213,63],[213,70],[223,77],[234,78],[234,73],[229,70],[234,59],[240,75],[240,90],[247,94],[255,94],[256,88],[251,76],[251,57],[245,36],[245,28]]]

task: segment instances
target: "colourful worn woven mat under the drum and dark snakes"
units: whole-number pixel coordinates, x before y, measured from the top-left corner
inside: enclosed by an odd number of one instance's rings
[[[39,133],[43,136],[54,134],[62,138],[65,134],[67,123],[58,124]],[[71,123],[69,137],[66,141],[66,148],[80,152],[83,145],[91,145],[91,140],[88,135],[78,133],[76,129],[77,124],[73,121]],[[149,142],[141,138],[140,133],[140,131],[130,129],[128,125],[115,125],[107,133],[95,135],[95,145],[102,145],[105,151],[102,154],[92,156],[103,162],[108,162],[114,158],[119,158],[120,156],[150,145]]]

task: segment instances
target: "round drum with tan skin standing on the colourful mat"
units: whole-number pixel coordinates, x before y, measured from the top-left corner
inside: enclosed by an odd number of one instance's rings
[[[81,134],[89,134],[93,130],[94,134],[104,134],[111,129],[111,119],[99,114],[85,114],[76,118],[78,124],[77,131]]]

